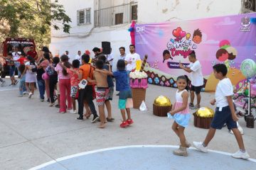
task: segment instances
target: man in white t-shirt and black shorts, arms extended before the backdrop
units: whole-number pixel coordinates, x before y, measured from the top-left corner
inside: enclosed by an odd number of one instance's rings
[[[191,62],[191,64],[189,64],[188,67],[184,67],[183,64],[181,64],[181,62],[179,66],[181,67],[181,69],[191,74],[191,103],[189,103],[189,108],[196,109],[200,108],[201,102],[200,91],[203,86],[202,67],[200,62],[196,60],[196,52],[194,50],[191,51],[191,53],[188,55],[188,60]],[[196,106],[193,105],[193,101],[195,98],[194,92],[196,92]]]

